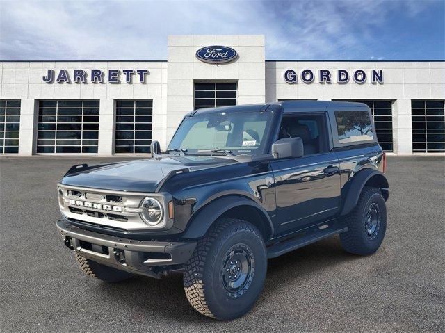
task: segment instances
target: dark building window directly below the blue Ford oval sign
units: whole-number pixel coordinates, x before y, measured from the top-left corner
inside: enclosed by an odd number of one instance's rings
[[[236,105],[236,83],[195,83],[195,110]]]

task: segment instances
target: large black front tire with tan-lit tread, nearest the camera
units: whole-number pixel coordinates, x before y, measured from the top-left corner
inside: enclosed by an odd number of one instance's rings
[[[245,262],[253,263],[254,273],[248,275],[250,279],[245,279],[249,281],[244,285],[247,289],[237,295],[227,291],[229,287],[224,285],[224,263],[228,265],[230,254],[243,249],[252,255],[253,260]],[[259,230],[243,220],[225,218],[218,220],[198,241],[191,259],[185,265],[184,290],[188,302],[196,311],[218,320],[232,320],[252,309],[263,289],[266,270],[267,252]]]

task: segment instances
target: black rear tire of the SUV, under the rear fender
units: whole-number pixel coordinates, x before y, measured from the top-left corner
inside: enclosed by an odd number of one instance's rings
[[[378,209],[380,215],[375,236],[370,236],[366,229],[366,220],[371,207]],[[340,234],[343,250],[363,256],[377,251],[382,244],[387,229],[387,209],[380,190],[365,186],[360,193],[357,206],[343,218],[343,223],[348,227],[347,232]]]

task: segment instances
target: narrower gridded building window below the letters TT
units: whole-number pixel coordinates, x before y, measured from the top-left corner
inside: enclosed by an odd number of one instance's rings
[[[149,153],[153,101],[116,101],[116,153]]]

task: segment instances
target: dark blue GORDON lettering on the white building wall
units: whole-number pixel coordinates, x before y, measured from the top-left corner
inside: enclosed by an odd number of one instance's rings
[[[295,70],[284,71],[284,81],[287,83],[298,83],[300,79],[303,83],[312,83],[316,79],[316,74],[318,74],[318,83],[332,83],[333,76],[336,76],[335,80],[337,83],[348,83],[350,78],[355,81],[355,83],[365,83],[367,80],[371,80],[371,83],[383,83],[383,71],[382,70],[370,70],[365,72],[364,70],[354,70],[353,72],[348,72],[347,70],[337,70],[331,72],[330,70],[318,70],[318,72],[313,70],[302,70],[298,74]]]

